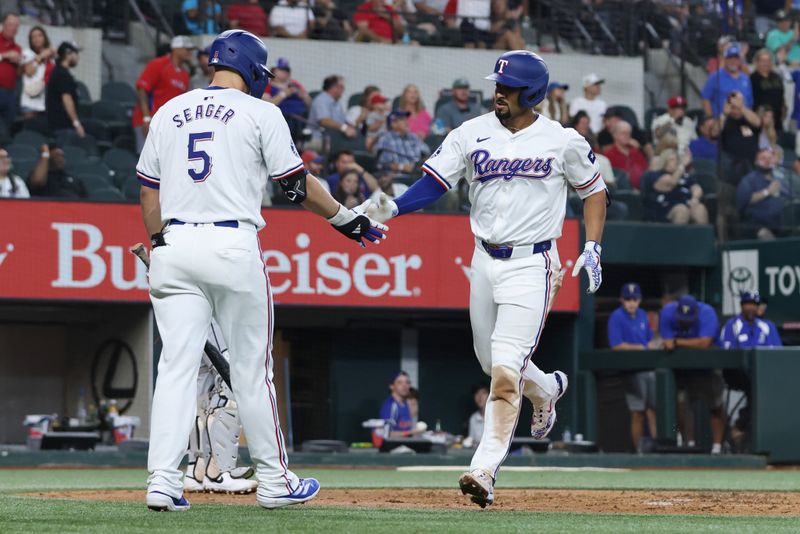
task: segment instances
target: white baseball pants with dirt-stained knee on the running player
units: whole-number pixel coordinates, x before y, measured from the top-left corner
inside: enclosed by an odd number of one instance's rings
[[[491,377],[483,437],[470,470],[493,477],[505,461],[517,428],[522,396],[536,405],[554,396],[558,384],[531,358],[557,291],[558,250],[524,258],[495,259],[478,244],[472,256],[469,312],[475,354]]]

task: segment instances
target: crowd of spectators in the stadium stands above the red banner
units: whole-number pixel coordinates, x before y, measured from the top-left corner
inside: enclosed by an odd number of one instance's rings
[[[491,9],[470,12],[477,18],[467,18],[463,10],[476,10],[476,4]],[[36,26],[21,46],[19,17],[6,15],[0,32],[0,141],[8,164],[0,167],[7,169],[0,177],[0,195],[135,200],[133,167],[152,114],[177,94],[206,85],[212,74],[207,51],[196,50],[189,34],[238,27],[259,35],[306,38],[323,24],[325,31],[335,28],[347,39],[398,42],[404,40],[398,34],[407,30],[408,20],[418,28],[432,19],[456,24],[464,35],[471,32],[474,39],[465,38],[465,46],[522,47],[524,42],[503,37],[494,23],[486,26],[480,17],[513,20],[499,28],[517,35],[528,4],[407,0],[389,5],[370,0],[352,18],[332,1],[310,9],[298,0],[282,0],[265,10],[257,1],[227,3],[223,9],[209,0],[203,3],[205,15],[198,5],[197,0],[182,3],[178,23],[187,35],[175,37],[166,54],[147,64],[135,88],[109,82],[103,88],[109,98],[97,102],[89,101],[85,86],[71,74],[80,60],[76,45],[51,44],[44,28]],[[409,19],[409,13],[416,18]],[[759,22],[764,24],[763,17]],[[785,221],[794,220],[800,193],[793,133],[800,105],[785,102],[789,91],[800,92],[795,83],[800,81],[800,25],[782,10],[769,25],[762,48],[731,36],[719,39],[717,54],[708,61],[702,109],[687,109],[687,100],[675,95],[667,108],[648,110],[640,123],[631,108],[604,100],[604,79],[597,73],[586,73],[579,88],[551,80],[538,111],[574,127],[592,146],[613,193],[609,218],[711,222],[722,239],[769,239],[788,232]],[[346,205],[381,192],[400,194],[450,130],[492,108],[492,98],[484,98],[463,78],[442,89],[433,106],[421,100],[413,84],[399,95],[368,85],[351,90],[345,102],[347,80],[331,74],[322,87],[306,87],[292,76],[292,60],[275,62],[275,79],[263,98],[282,110],[306,164]],[[54,150],[63,153],[63,161],[49,162],[47,174],[60,168],[64,176],[53,175],[44,186],[33,179],[33,171],[45,168],[43,160]],[[282,203],[283,197],[273,193],[265,192],[264,205]],[[462,184],[433,210],[468,208]],[[571,195],[568,215],[581,209],[577,195]]]

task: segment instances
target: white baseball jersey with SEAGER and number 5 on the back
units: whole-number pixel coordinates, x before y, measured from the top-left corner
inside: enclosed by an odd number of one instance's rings
[[[195,89],[159,108],[136,166],[161,218],[264,227],[266,179],[303,170],[281,111],[236,89]]]

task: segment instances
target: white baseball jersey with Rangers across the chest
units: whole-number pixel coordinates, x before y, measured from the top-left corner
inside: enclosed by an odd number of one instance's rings
[[[567,184],[581,198],[606,187],[586,140],[541,115],[516,133],[493,112],[471,119],[450,132],[422,168],[448,189],[467,180],[472,233],[498,245],[557,239]]]

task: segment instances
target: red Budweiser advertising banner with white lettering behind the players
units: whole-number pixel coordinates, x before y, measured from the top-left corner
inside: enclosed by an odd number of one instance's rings
[[[389,239],[359,248],[304,210],[264,210],[259,233],[277,304],[464,309],[475,248],[466,215],[408,215]],[[130,245],[147,242],[139,207],[0,201],[0,298],[146,301],[144,266]],[[564,267],[579,250],[564,224]],[[564,278],[554,310],[578,311],[577,279]]]

